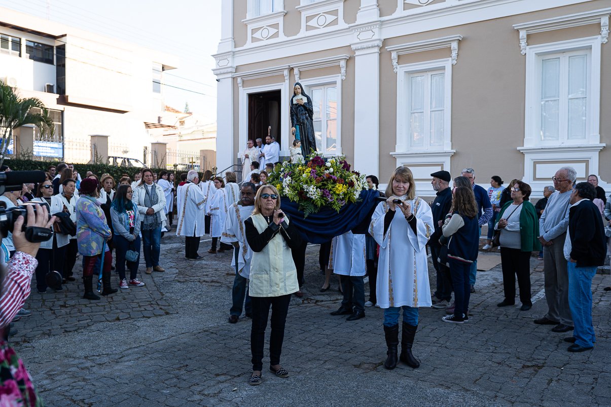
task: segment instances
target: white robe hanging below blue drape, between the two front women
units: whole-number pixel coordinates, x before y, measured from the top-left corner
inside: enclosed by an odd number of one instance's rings
[[[365,260],[365,235],[354,235],[348,231],[333,238],[329,268],[342,276],[364,276],[367,272]]]

